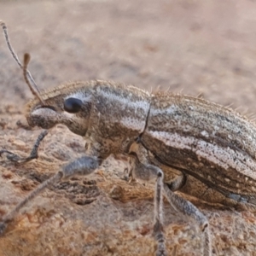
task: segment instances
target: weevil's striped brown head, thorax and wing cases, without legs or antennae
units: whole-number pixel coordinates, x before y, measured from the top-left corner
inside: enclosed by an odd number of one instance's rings
[[[226,198],[255,203],[256,128],[239,113],[200,98],[150,95],[131,85],[99,80],[65,84],[41,96],[45,106],[37,99],[27,105],[28,124],[44,129],[67,125],[90,144],[86,154],[102,159],[127,154],[139,137],[154,155],[155,160],[148,156],[148,161],[158,161],[166,172],[166,182],[176,171]],[[65,111],[70,98],[82,102],[76,113]],[[205,191],[200,195],[199,190],[186,193],[201,198]],[[218,202],[214,196],[206,198]]]

